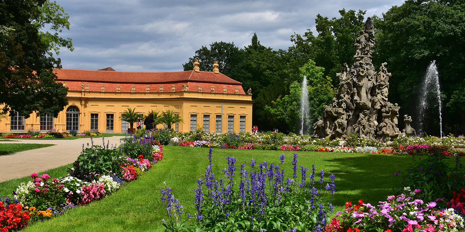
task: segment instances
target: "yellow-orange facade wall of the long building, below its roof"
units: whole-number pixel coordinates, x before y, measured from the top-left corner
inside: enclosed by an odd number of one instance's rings
[[[53,128],[66,131],[66,110],[70,106],[79,109],[79,132],[90,130],[91,114],[98,115],[98,129],[106,129],[106,114],[113,114],[113,132],[121,131],[119,117],[127,108],[146,115],[151,110],[159,112],[173,110],[184,120],[179,123],[179,131],[189,131],[191,115],[197,115],[197,124],[203,126],[203,116],[210,115],[209,132],[215,132],[216,115],[222,115],[222,132],[228,131],[228,116],[233,116],[233,130],[239,132],[239,118],[246,116],[245,130],[252,129],[252,96],[244,94],[205,93],[205,92],[89,92],[68,91],[68,106],[53,119]],[[134,128],[135,128],[134,123]],[[163,125],[158,125],[162,128]],[[174,125],[173,125],[174,128]],[[33,113],[25,120],[25,129],[40,129],[40,117]],[[0,131],[10,132],[10,117],[1,119]],[[16,131],[15,131],[16,132]]]

